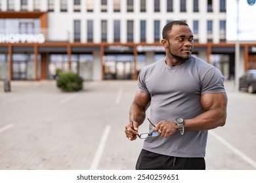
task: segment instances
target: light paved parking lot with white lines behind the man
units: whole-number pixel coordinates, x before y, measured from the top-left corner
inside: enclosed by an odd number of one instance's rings
[[[209,132],[207,169],[256,169],[256,95],[225,86],[228,117]],[[136,81],[85,82],[76,93],[13,81],[6,93],[1,82],[0,169],[135,169],[142,140],[123,130],[136,90]]]

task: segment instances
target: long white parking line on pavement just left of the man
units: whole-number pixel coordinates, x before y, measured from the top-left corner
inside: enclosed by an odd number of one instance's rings
[[[104,147],[106,144],[106,140],[108,139],[108,134],[110,133],[111,126],[106,125],[104,129],[104,133],[100,139],[100,144],[98,144],[98,149],[96,150],[95,158],[93,158],[93,162],[91,163],[90,170],[96,170],[98,168],[98,163],[100,163],[100,158],[104,151]]]

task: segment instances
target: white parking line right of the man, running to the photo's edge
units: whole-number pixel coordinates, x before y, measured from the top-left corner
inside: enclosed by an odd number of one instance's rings
[[[254,167],[256,169],[256,163],[255,163],[255,161],[253,161],[253,159],[246,156],[243,152],[241,152],[240,150],[238,150],[237,148],[232,146],[230,143],[226,142],[221,136],[217,135],[213,131],[209,131],[209,134],[212,135],[213,137],[215,137],[218,141],[223,143],[227,148],[232,150],[232,152],[234,152],[234,154],[240,156],[240,158],[244,159],[244,161],[246,161],[247,163],[249,163],[249,165],[251,165],[252,167]]]

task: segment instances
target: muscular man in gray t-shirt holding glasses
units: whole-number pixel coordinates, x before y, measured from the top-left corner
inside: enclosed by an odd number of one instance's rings
[[[194,37],[186,23],[169,22],[162,35],[165,58],[140,71],[125,135],[145,139],[136,169],[205,169],[207,131],[226,122],[224,78],[192,56]],[[140,135],[148,107],[150,133]]]

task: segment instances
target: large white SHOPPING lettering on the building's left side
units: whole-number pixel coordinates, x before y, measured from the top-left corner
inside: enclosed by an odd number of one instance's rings
[[[43,43],[43,34],[0,34],[0,43]]]

